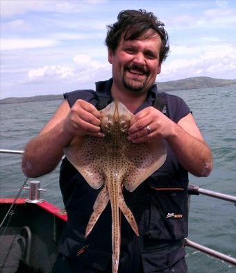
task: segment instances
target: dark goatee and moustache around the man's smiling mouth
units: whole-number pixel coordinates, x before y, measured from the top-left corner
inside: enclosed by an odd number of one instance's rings
[[[132,70],[144,74],[145,78],[138,79],[138,78],[133,78],[132,76],[128,76],[126,74],[126,71],[132,71]],[[147,82],[148,75],[149,75],[149,72],[143,67],[138,67],[137,65],[130,65],[128,67],[125,67],[124,75],[122,77],[122,83],[124,87],[130,91],[142,92],[146,90],[146,82]]]

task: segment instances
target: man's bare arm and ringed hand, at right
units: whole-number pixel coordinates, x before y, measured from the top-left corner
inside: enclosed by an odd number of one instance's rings
[[[210,174],[212,154],[191,113],[176,124],[153,107],[140,111],[130,121],[128,140],[140,143],[151,138],[167,140],[180,164],[191,174]]]

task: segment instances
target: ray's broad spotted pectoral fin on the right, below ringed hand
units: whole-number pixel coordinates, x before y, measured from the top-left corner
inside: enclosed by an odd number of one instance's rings
[[[165,140],[151,140],[142,144],[130,144],[126,149],[130,172],[124,177],[124,186],[133,192],[145,179],[165,163],[167,145]]]

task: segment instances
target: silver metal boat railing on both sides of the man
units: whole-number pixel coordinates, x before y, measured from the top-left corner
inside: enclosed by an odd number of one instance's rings
[[[24,154],[24,151],[0,149],[0,154]],[[190,195],[207,195],[209,197],[213,197],[216,199],[221,199],[224,201],[233,202],[233,204],[235,204],[235,206],[236,206],[236,197],[233,195],[225,195],[224,193],[221,193],[221,192],[214,192],[212,190],[206,190],[206,189],[203,189],[203,188],[196,186],[196,185],[189,185],[187,188],[187,192],[188,192],[189,196]],[[199,245],[198,243],[193,242],[192,240],[189,240],[188,238],[185,238],[185,246],[191,247],[193,249],[201,251],[205,254],[208,254],[208,255],[218,258],[220,260],[224,260],[226,263],[230,263],[231,265],[236,266],[236,258],[225,255],[219,251],[215,251],[214,249],[210,249],[209,247]]]

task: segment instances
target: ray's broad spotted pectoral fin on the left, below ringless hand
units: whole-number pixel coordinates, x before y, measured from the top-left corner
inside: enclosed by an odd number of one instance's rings
[[[64,149],[64,153],[92,188],[101,188],[104,183],[101,162],[106,154],[106,143],[103,139],[88,135],[76,136]]]

